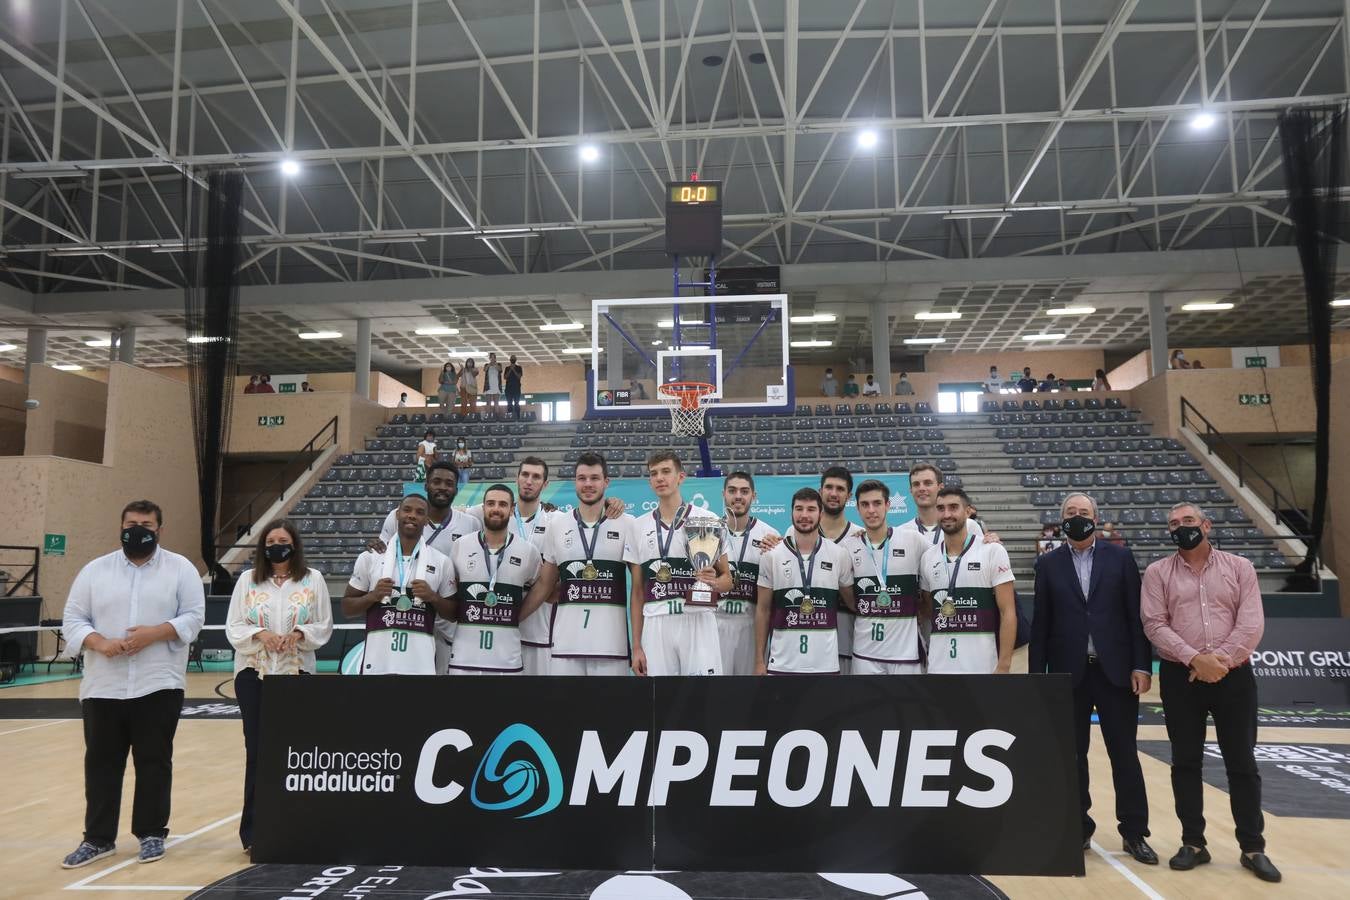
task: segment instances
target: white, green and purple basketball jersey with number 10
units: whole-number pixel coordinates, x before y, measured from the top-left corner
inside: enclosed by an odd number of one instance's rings
[[[485,548],[481,536],[455,541],[454,560],[459,627],[450,668],[520,672],[520,607],[539,578],[539,551],[508,532],[500,551]]]

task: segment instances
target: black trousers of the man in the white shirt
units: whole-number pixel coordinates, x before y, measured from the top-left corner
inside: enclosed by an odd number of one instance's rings
[[[131,833],[138,838],[167,835],[173,735],[182,712],[182,691],[155,691],[132,700],[89,699],[80,710],[85,730],[84,839],[97,845],[117,839],[128,750],[136,768]]]

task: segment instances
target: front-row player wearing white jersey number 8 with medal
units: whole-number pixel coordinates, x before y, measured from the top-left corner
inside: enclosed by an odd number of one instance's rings
[[[840,671],[840,606],[855,607],[853,557],[821,532],[821,495],[792,494],[792,530],[760,561],[755,673]]]

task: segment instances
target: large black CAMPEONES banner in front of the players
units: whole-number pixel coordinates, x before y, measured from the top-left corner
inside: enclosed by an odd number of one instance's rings
[[[266,679],[254,861],[1083,874],[1069,694],[1066,676]]]

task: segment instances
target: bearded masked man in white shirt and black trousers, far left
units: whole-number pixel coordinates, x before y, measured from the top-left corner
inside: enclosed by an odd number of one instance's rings
[[[188,646],[201,631],[207,599],[197,568],[159,546],[162,529],[155,503],[127,503],[122,549],[80,569],[66,598],[68,652],[85,653],[85,833],[62,861],[66,869],[116,850],[128,750],[136,766],[131,833],[140,841],[138,858],[154,862],[165,854]]]

